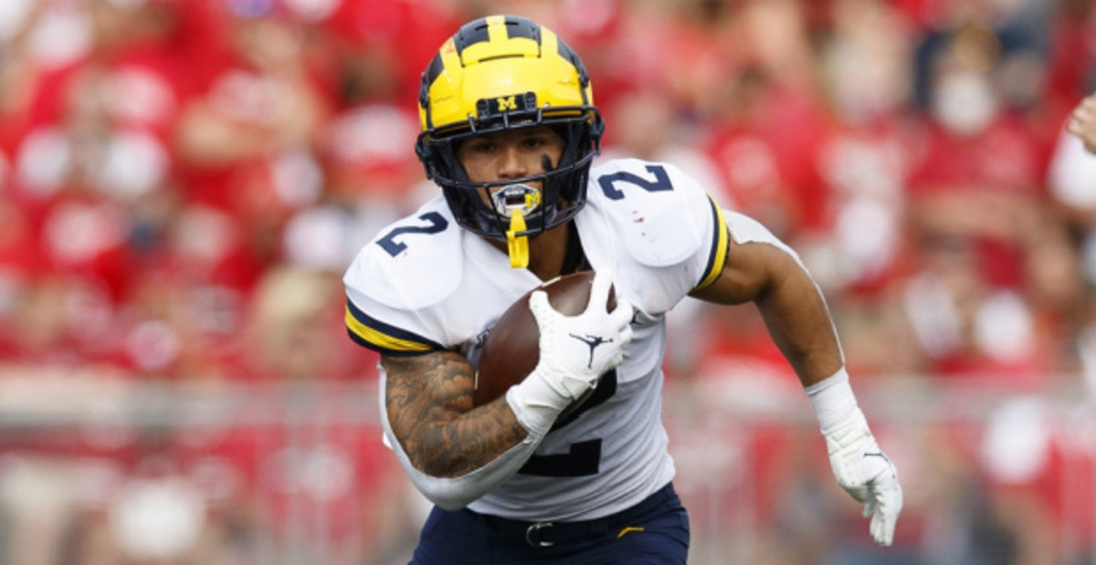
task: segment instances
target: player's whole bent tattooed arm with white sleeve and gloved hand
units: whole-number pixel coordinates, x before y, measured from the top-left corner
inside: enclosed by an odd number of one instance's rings
[[[610,285],[595,276],[592,303],[604,304]],[[631,338],[632,309],[623,297],[613,312],[563,316],[535,292],[529,308],[540,327],[540,362],[483,406],[472,406],[475,373],[459,354],[380,359],[385,434],[415,487],[442,508],[463,508],[521,471],[560,412],[620,362]],[[569,336],[574,327],[608,342],[587,360],[586,344]]]

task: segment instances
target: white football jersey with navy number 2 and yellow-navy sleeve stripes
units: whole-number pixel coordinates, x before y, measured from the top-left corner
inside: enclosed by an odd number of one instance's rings
[[[591,267],[612,270],[616,292],[636,308],[633,339],[624,362],[582,408],[556,423],[525,466],[469,505],[476,511],[598,518],[674,476],[661,418],[664,314],[722,270],[722,210],[674,165],[620,159],[591,170],[574,221]],[[369,242],[344,282],[346,325],[357,343],[383,355],[456,350],[475,366],[499,316],[543,281],[457,226],[438,196]]]

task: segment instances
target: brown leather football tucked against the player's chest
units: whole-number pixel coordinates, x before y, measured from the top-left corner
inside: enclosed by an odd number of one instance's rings
[[[557,312],[578,315],[590,302],[593,281],[592,272],[555,278],[526,292],[502,313],[480,353],[473,395],[476,406],[505,394],[512,385],[522,382],[533,372],[540,360],[540,331],[529,310],[529,295],[535,290],[544,290],[548,292],[548,302]],[[616,308],[616,295],[612,288],[606,308],[607,311]]]

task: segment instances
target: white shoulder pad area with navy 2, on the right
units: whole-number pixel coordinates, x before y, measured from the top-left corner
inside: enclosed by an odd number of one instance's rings
[[[669,163],[608,161],[591,171],[589,200],[628,254],[664,267],[696,253],[710,229],[711,204],[703,188]]]

